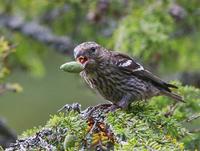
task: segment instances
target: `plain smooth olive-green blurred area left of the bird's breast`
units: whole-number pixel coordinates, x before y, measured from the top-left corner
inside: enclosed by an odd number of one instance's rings
[[[27,128],[44,125],[49,115],[56,114],[65,104],[79,102],[84,109],[103,100],[87,88],[79,74],[59,70],[59,66],[68,60],[51,51],[44,60],[45,76],[37,78],[16,70],[8,78],[10,82],[20,83],[23,91],[1,96],[0,116],[19,134]]]

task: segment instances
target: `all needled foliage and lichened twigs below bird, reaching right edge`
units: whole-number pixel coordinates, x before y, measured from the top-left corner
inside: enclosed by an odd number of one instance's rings
[[[112,113],[105,113],[108,104],[84,111],[79,104],[65,106],[65,112],[51,116],[44,127],[27,130],[6,150],[198,150],[200,134],[187,127],[190,117],[199,114],[200,90],[179,90],[186,103],[160,96]]]

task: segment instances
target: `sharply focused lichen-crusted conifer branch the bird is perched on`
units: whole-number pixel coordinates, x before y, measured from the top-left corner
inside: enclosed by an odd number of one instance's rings
[[[6,151],[184,150],[177,140],[186,135],[184,128],[150,106],[135,104],[130,106],[130,112],[116,110],[112,113],[106,113],[110,104],[85,110],[80,107],[77,103],[65,105],[61,109],[66,109],[65,112],[52,116],[46,126],[27,131]]]

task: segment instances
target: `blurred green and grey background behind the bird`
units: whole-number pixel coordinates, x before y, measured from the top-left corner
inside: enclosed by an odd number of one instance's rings
[[[59,66],[96,41],[128,53],[166,81],[200,87],[199,0],[0,0],[0,119],[18,134],[67,103],[104,100]],[[8,52],[8,56],[4,56]]]

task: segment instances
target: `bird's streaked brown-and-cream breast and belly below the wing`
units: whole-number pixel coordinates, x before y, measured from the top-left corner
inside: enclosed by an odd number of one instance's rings
[[[81,75],[92,88],[111,102],[118,102],[125,95],[131,96],[130,101],[144,100],[159,92],[151,83],[117,69],[110,61],[104,61],[92,74],[84,71]]]

